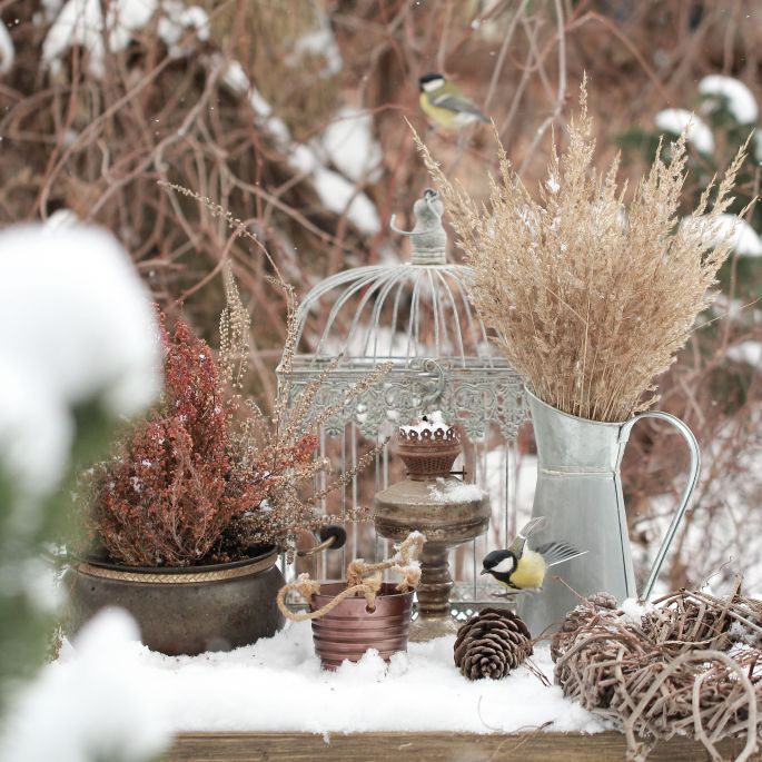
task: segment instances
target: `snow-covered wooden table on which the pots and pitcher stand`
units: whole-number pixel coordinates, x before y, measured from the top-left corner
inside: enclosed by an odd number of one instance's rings
[[[48,687],[57,691],[46,701],[58,707],[61,726],[76,726],[83,713],[102,726],[113,721],[109,706],[118,692],[142,718],[144,735],[175,735],[165,762],[625,759],[622,734],[527,666],[499,681],[463,677],[452,636],[410,643],[390,664],[369,652],[357,664],[325,672],[309,623],[230,653],[164,656],[125,637],[122,618],[106,615],[83,642],[63,645],[47,667]],[[537,649],[533,664],[552,680],[548,649]],[[61,701],[77,690],[80,701]],[[719,749],[734,759],[742,746],[726,741]],[[703,746],[682,738],[649,756],[706,759]]]

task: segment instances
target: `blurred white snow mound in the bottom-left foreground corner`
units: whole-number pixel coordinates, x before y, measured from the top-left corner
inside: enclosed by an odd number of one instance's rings
[[[142,762],[171,739],[128,614],[101,612],[60,661],[17,695],[0,734],[13,762]]]

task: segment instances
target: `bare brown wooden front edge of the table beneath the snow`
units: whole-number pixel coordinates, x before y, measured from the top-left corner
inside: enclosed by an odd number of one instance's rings
[[[719,744],[723,759],[732,760],[743,742]],[[166,762],[621,762],[626,744],[621,733],[184,733]],[[754,760],[762,759],[758,752]],[[659,744],[649,762],[703,762],[704,748],[686,739]]]

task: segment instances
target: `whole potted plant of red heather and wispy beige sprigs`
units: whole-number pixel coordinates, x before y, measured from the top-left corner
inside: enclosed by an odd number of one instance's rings
[[[362,517],[324,515],[320,503],[364,468],[377,448],[325,489],[303,495],[303,485],[315,484],[316,475],[328,471],[328,462],[315,457],[317,437],[310,431],[335,408],[321,410],[316,419],[309,416],[321,378],[293,406],[290,388],[280,388],[271,420],[244,398],[250,318],[229,270],[225,286],[219,366],[185,321],[178,320],[170,334],[162,320],[162,398],[87,479],[90,541],[115,563],[220,563],[246,558],[263,545],[277,545],[293,556],[300,532]],[[296,330],[290,289],[288,303],[286,360],[294,353]],[[368,374],[347,400],[386,369]]]

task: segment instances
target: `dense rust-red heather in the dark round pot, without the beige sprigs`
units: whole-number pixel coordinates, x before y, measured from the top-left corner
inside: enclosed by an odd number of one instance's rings
[[[209,346],[178,320],[162,325],[165,393],[91,478],[88,524],[110,560],[132,566],[187,566],[225,560],[230,522],[256,509],[268,477],[234,478],[228,403]],[[309,458],[301,443],[295,458]]]

